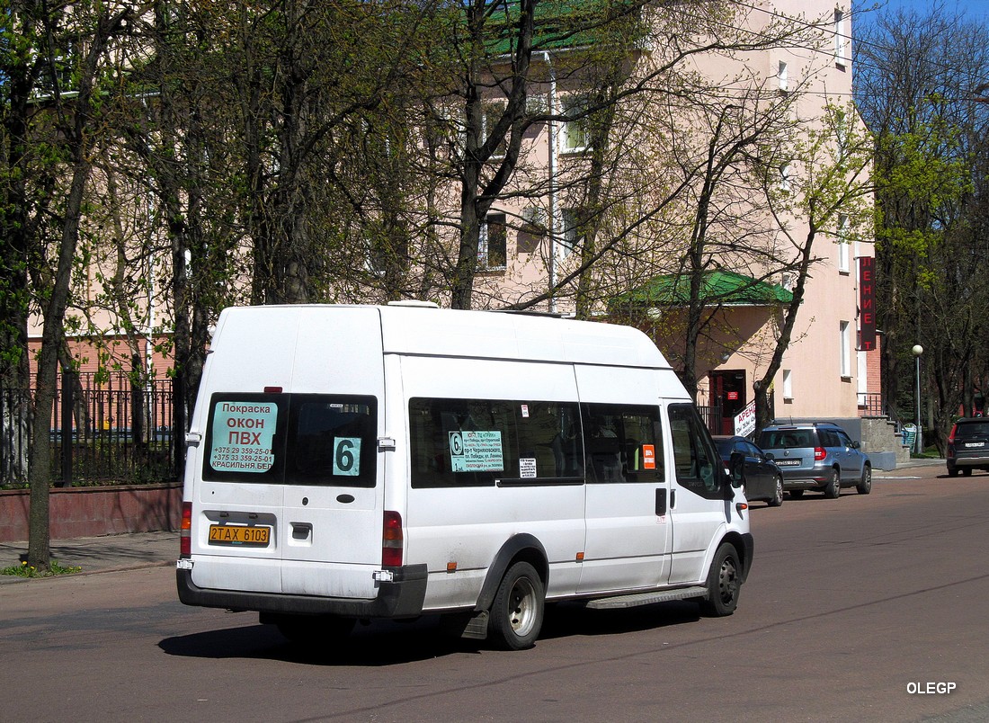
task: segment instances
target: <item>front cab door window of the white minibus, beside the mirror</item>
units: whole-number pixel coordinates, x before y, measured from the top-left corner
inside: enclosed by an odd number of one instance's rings
[[[669,412],[676,482],[700,497],[722,497],[724,463],[697,409],[693,405],[671,405]]]

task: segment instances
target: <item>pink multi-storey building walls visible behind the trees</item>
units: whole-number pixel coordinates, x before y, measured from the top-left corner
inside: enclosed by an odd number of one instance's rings
[[[787,98],[789,117],[798,120],[801,133],[806,134],[808,130],[823,127],[822,109],[826,104],[848,107],[851,102],[854,77],[851,9],[836,7],[825,0],[772,0],[752,8],[744,18],[753,32],[760,33],[780,16],[800,18],[792,22],[814,26],[818,36],[816,45],[781,45],[730,56],[711,53],[694,58],[690,70],[707,79],[711,87],[737,91],[742,98],[739,103],[752,104],[749,108],[753,114],[759,112],[759,106],[752,100],[757,96]],[[644,46],[630,57],[630,64],[648,70],[657,52],[655,46]],[[536,112],[565,114],[579,97],[579,76],[561,72],[566,63],[567,48],[537,54],[534,58],[542,73],[542,82],[535,86],[529,101]],[[498,98],[493,96],[491,100],[496,106]],[[680,122],[677,142],[693,137],[696,147],[706,144],[713,128],[710,114],[718,112],[712,108],[705,109],[706,119],[701,118],[697,108],[676,119]],[[736,106],[728,99],[720,108],[721,113],[727,113],[726,109]],[[642,113],[643,118],[651,112],[670,113],[669,108],[624,110],[626,117],[635,113]],[[861,130],[854,112],[850,123],[856,131]],[[529,194],[526,200],[513,198],[495,204],[489,214],[479,250],[481,270],[475,283],[476,308],[497,309],[524,303],[551,286],[560,285],[562,293],[533,309],[562,314],[574,311],[577,280],[568,279],[580,257],[581,239],[575,237],[580,202],[575,197],[581,191],[569,188],[567,179],[574,168],[585,162],[582,134],[580,124],[562,122],[536,124],[528,132],[518,173],[525,179],[524,183],[540,193]],[[623,171],[626,173],[623,182],[635,192],[628,195],[620,208],[613,207],[618,210],[602,226],[627,225],[636,214],[640,217],[648,214],[650,204],[655,206],[657,195],[662,193],[661,187],[669,182],[665,173],[652,172],[650,163],[643,159],[653,157],[653,168],[661,168],[663,159],[672,157],[674,145],[670,139],[658,139],[654,144],[646,123],[631,132],[630,137],[628,158],[638,162],[629,165],[638,170]],[[809,172],[796,163],[792,169],[784,165],[780,169],[780,183],[788,183],[790,174],[798,179]],[[739,245],[744,246],[753,228],[763,224],[759,243],[776,244],[778,249],[783,249],[777,255],[782,255],[786,239],[774,228],[768,211],[762,213],[764,222],[756,222],[753,219],[760,216],[759,205],[752,198],[741,199],[739,203],[745,209],[740,214],[748,225],[746,233],[739,231]],[[682,204],[666,213],[663,219],[666,230],[662,233],[654,232],[659,226],[644,224],[641,231],[627,234],[623,240],[627,244],[623,258],[646,259],[637,267],[626,268],[614,260],[595,267],[595,315],[607,320],[609,300],[664,279],[675,279],[675,259],[682,253],[681,247],[677,250],[677,237],[670,229],[675,228],[677,215],[687,218],[692,213],[689,204]],[[847,215],[839,212],[814,241],[814,256],[819,261],[811,269],[792,341],[773,379],[772,390],[776,417],[836,420],[845,423],[855,437],[858,418],[877,410],[871,400],[878,398],[879,391],[879,342],[859,343],[863,280],[859,276],[858,259],[873,256],[873,246],[867,229],[850,233],[839,242],[842,226],[853,215],[851,211]],[[791,213],[786,223],[790,236],[806,237],[808,223],[799,213]],[[730,230],[721,228],[720,234],[724,244]],[[728,433],[732,431],[734,415],[753,401],[754,381],[764,376],[777,333],[779,309],[788,297],[793,279],[784,271],[774,271],[771,265],[759,267],[750,257],[731,254],[719,258],[718,271],[721,280],[741,280],[738,282],[741,291],[722,298],[716,311],[710,310],[717,323],[698,345],[693,371],[698,380],[698,404],[718,409],[720,418],[712,426],[716,431]],[[758,288],[768,290],[768,295],[747,293],[757,288],[755,280],[761,282]],[[652,331],[668,357],[681,354],[676,306],[646,305],[639,311],[645,319],[644,327]],[[167,335],[167,320],[162,318],[162,311],[158,315],[155,327],[163,328]],[[664,322],[660,323],[661,320]],[[83,347],[78,348],[79,355],[86,356]],[[121,358],[127,368],[130,351],[127,345],[119,348],[125,352]],[[167,356],[154,352],[143,339],[141,348],[142,353],[154,357],[154,368],[161,376],[168,367]],[[96,361],[91,353],[86,358],[89,363],[83,364],[83,371]]]

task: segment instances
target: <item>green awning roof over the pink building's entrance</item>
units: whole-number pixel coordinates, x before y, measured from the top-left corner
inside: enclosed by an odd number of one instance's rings
[[[778,284],[753,279],[733,271],[708,271],[701,279],[704,306],[769,307],[789,304],[793,295]],[[613,298],[612,309],[622,307],[684,307],[690,301],[687,274],[657,276],[648,284]]]

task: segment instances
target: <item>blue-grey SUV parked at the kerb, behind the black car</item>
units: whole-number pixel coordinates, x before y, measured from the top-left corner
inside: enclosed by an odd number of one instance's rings
[[[859,495],[872,491],[872,465],[858,442],[837,424],[806,422],[774,424],[759,435],[759,446],[783,473],[783,489],[790,497],[805,490],[839,497],[843,487]]]

